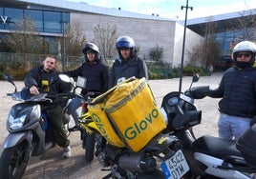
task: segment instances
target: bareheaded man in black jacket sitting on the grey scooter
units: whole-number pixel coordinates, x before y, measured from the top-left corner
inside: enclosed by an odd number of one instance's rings
[[[36,95],[39,92],[46,92],[48,94],[68,92],[70,85],[62,82],[58,75],[59,72],[55,70],[55,59],[53,56],[47,56],[43,61],[43,65],[30,70],[25,77],[25,86],[30,89],[31,94]],[[70,157],[70,141],[67,138],[67,132],[63,124],[62,107],[65,105],[59,101],[53,101],[52,108],[47,109],[49,123],[53,132],[54,142],[64,149],[62,157]]]

